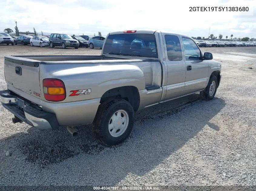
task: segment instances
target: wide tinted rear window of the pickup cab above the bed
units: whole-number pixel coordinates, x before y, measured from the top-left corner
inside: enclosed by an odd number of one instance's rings
[[[111,34],[106,39],[102,53],[158,58],[154,34]]]

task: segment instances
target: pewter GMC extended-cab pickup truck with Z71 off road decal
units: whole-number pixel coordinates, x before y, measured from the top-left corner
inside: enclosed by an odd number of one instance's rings
[[[221,63],[186,35],[149,30],[111,32],[101,55],[5,56],[2,105],[13,123],[58,129],[92,123],[95,138],[117,145],[134,113],[200,92],[211,100]]]

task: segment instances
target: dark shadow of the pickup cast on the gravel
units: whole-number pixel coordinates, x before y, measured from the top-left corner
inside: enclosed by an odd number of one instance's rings
[[[55,164],[57,168],[67,163],[69,169],[76,170],[72,179],[78,180],[80,185],[85,185],[91,177],[94,183],[100,180],[115,185],[129,173],[142,176],[152,170],[204,126],[218,131],[219,127],[209,121],[225,104],[221,98],[202,101],[198,94],[194,94],[141,110],[135,113],[130,137],[113,147],[98,144],[92,135],[91,125],[76,127],[77,137],[72,137],[65,128],[40,131],[31,127],[27,133],[1,139],[0,145],[12,147],[11,157],[22,153],[25,156],[23,162],[41,168],[41,173],[49,165],[52,168]],[[91,177],[79,176],[85,171]]]

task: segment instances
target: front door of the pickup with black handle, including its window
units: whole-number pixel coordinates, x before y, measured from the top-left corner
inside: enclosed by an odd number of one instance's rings
[[[186,81],[183,95],[203,90],[208,81],[208,61],[202,59],[203,54],[197,44],[188,37],[182,37],[186,63]]]

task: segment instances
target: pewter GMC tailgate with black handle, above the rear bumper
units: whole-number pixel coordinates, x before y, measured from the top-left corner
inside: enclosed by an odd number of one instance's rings
[[[38,60],[5,56],[4,71],[7,89],[16,94],[19,90],[41,99],[39,63]]]

